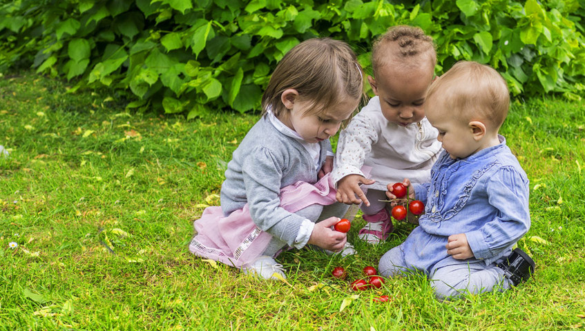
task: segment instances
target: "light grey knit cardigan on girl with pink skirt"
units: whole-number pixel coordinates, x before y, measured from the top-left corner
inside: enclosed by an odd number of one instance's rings
[[[325,163],[331,142],[320,142],[319,168]],[[278,194],[285,186],[316,183],[317,171],[309,152],[297,139],[282,134],[262,117],[246,134],[227,164],[222,183],[221,206],[227,216],[248,203],[251,218],[260,230],[287,242],[298,235],[305,217],[280,208]]]

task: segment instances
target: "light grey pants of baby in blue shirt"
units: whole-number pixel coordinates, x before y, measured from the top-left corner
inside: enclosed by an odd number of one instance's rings
[[[465,294],[493,290],[504,292],[510,288],[510,282],[504,277],[504,270],[498,268],[496,263],[486,265],[477,259],[456,261],[460,262],[430,270],[428,277],[437,299],[457,298]],[[378,270],[384,277],[417,272],[404,261],[400,246],[392,248],[381,257]]]

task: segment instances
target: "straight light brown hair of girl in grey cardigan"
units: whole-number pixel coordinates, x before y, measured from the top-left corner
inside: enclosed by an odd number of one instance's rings
[[[280,97],[289,88],[312,103],[306,114],[322,114],[345,97],[361,101],[365,95],[356,54],[347,43],[330,38],[307,39],[285,54],[262,95],[262,114],[269,108],[276,117],[286,112]]]

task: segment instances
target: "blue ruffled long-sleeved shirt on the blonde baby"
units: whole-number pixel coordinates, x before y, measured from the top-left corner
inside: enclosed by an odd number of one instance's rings
[[[489,265],[528,232],[528,177],[506,139],[499,139],[499,145],[465,159],[443,152],[430,183],[414,185],[425,214],[402,245],[407,263],[427,272],[439,268],[452,261],[445,248],[448,237],[464,233],[474,258]]]

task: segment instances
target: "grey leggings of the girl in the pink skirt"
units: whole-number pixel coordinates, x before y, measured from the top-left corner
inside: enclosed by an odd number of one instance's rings
[[[332,205],[309,205],[307,208],[298,210],[295,214],[298,214],[313,223],[317,223],[319,221],[323,221],[324,219],[328,219],[329,217],[343,217],[349,205],[345,203],[333,203]],[[284,230],[284,229],[282,229]],[[274,225],[271,228],[272,232],[279,233],[278,224]],[[285,248],[287,245],[286,241],[282,241],[277,237],[272,237],[270,243],[266,250],[264,251],[263,255],[268,255],[269,257],[274,257],[282,248]]]

